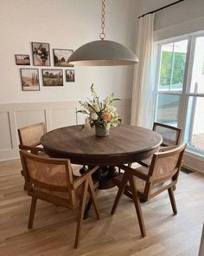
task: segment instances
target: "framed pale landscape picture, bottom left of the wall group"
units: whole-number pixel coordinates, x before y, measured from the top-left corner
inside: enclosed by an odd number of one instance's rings
[[[40,90],[38,69],[20,69],[22,90]]]

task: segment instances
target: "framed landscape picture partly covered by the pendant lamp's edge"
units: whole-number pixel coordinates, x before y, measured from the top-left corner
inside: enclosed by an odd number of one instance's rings
[[[73,49],[53,49],[55,67],[73,67],[69,64],[68,58],[73,54]]]

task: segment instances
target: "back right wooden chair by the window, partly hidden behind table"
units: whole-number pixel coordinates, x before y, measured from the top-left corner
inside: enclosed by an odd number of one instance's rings
[[[163,151],[164,147],[169,147],[170,149],[172,146],[180,144],[182,138],[182,128],[176,128],[164,123],[154,122],[152,130],[163,137],[163,143],[161,144],[159,151]],[[152,156],[143,161],[137,161],[137,163],[143,167],[150,167],[151,160]]]

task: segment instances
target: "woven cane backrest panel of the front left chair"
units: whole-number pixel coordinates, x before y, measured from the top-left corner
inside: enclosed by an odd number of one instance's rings
[[[66,169],[63,165],[41,163],[27,159],[29,176],[35,181],[41,181],[48,185],[67,186]]]

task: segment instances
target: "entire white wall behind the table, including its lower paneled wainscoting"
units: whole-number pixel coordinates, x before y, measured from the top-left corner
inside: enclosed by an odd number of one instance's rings
[[[106,39],[135,49],[137,23],[135,0],[105,1]],[[0,1],[0,161],[18,157],[17,128],[45,121],[48,130],[82,122],[76,115],[78,101],[90,96],[95,84],[100,97],[112,91],[121,98],[118,114],[130,122],[134,67],[74,67],[75,81],[63,87],[43,87],[41,69],[16,66],[15,54],[30,56],[31,42],[53,49],[77,49],[99,39],[100,0],[6,0]],[[20,68],[39,69],[41,90],[22,91]],[[61,68],[60,68],[61,69]],[[66,68],[63,68],[66,69]]]

